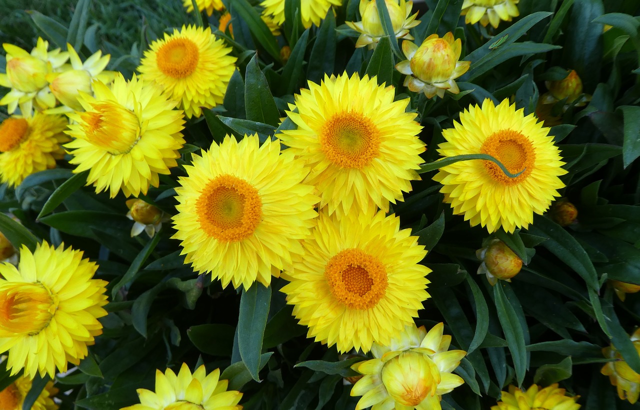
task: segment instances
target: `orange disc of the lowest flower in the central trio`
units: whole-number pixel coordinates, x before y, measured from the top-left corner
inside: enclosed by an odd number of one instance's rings
[[[385,296],[387,270],[375,256],[360,249],[344,249],[324,267],[331,293],[351,309],[370,309]]]

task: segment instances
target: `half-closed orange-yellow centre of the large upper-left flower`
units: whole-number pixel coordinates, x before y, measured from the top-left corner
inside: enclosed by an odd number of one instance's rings
[[[111,155],[126,154],[140,138],[136,114],[113,101],[92,104],[93,111],[80,114],[85,138]]]

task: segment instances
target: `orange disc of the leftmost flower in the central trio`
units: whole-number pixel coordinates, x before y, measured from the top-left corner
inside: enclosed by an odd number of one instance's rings
[[[262,221],[258,190],[228,174],[214,178],[202,189],[196,210],[202,230],[223,242],[250,237]]]

